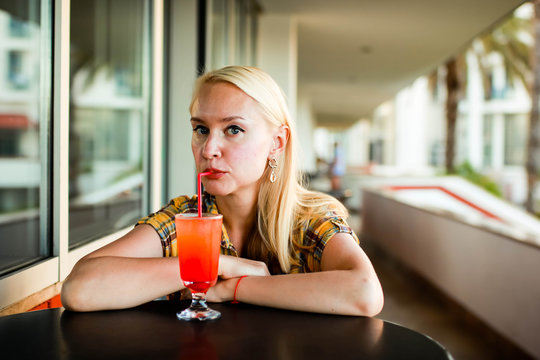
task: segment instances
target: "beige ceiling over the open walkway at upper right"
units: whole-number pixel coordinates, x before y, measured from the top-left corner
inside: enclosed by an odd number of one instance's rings
[[[523,2],[259,0],[263,15],[297,21],[298,89],[311,98],[319,125],[370,117]]]

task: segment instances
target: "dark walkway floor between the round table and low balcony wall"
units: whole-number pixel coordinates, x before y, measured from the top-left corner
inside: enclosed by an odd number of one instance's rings
[[[358,217],[353,216],[349,222],[360,230]],[[532,359],[376,245],[362,240],[362,247],[385,294],[378,318],[430,336],[455,360]]]

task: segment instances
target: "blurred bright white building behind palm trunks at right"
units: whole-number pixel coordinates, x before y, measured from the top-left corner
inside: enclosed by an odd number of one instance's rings
[[[518,8],[515,16],[530,18],[530,4]],[[522,206],[527,193],[530,96],[519,79],[509,79],[500,53],[479,56],[479,47],[476,39],[459,54],[465,59],[466,74],[458,107],[455,165],[468,162],[498,185],[504,199]],[[365,146],[369,146],[370,162],[391,167],[396,175],[444,172],[445,76],[441,65],[375,110],[363,139],[369,144]]]

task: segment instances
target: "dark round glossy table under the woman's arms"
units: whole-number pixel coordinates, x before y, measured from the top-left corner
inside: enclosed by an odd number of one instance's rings
[[[222,317],[184,322],[187,302],[118,311],[49,309],[0,317],[7,359],[452,359],[436,341],[376,318],[246,304],[211,304]]]

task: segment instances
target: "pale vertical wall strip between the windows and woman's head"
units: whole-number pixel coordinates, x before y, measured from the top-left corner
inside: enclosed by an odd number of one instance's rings
[[[196,192],[189,102],[197,67],[197,3],[171,2],[167,198]]]

